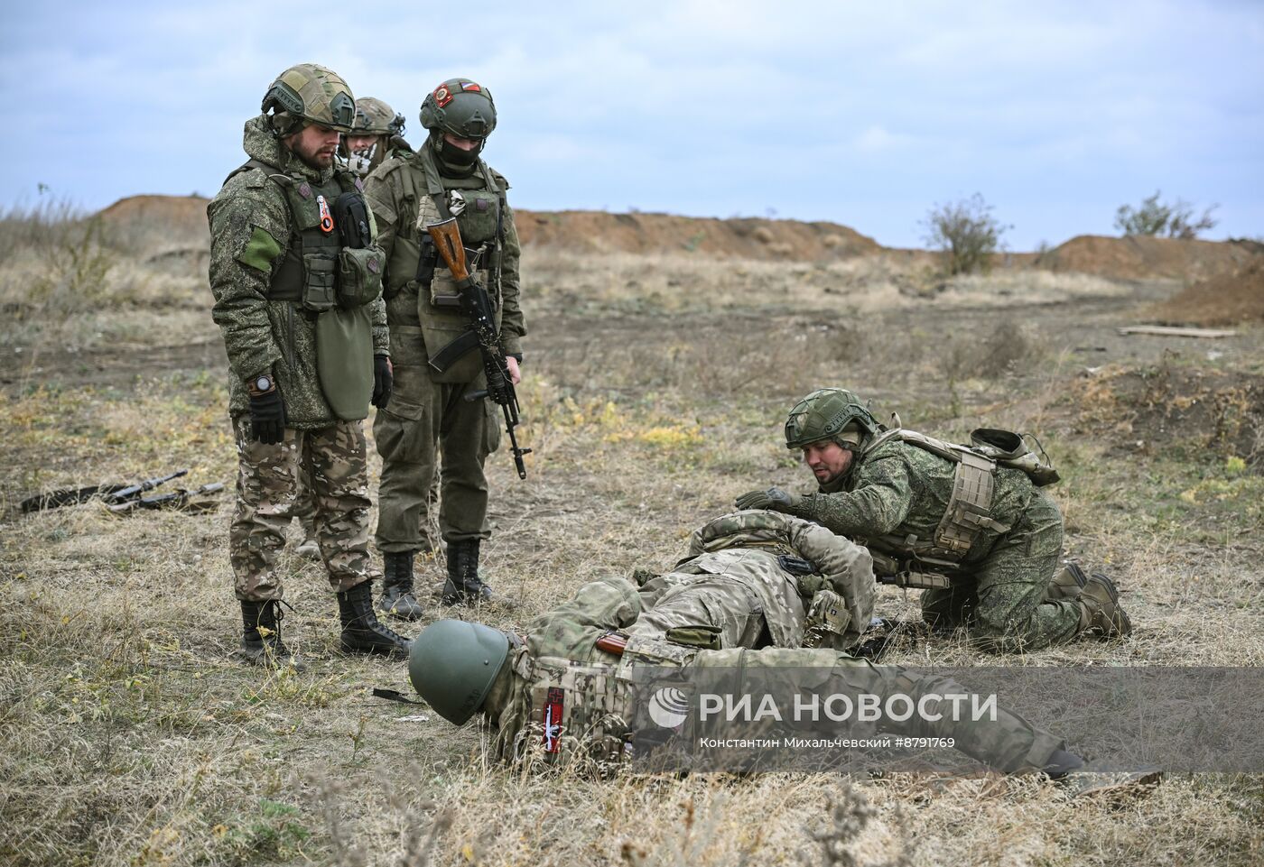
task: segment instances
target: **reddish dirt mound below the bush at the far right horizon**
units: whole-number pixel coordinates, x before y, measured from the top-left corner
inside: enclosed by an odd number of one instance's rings
[[[1040,254],[1033,264],[1112,279],[1205,279],[1240,268],[1255,255],[1253,246],[1250,241],[1079,235]]]

